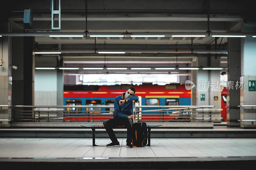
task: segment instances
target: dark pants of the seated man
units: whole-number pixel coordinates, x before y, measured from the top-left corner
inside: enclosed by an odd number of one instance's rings
[[[126,142],[132,142],[132,119],[128,119],[125,117],[114,117],[103,122],[103,125],[108,132],[108,136],[112,142],[118,142],[116,135],[113,131],[115,126],[125,126],[127,128],[127,139]]]

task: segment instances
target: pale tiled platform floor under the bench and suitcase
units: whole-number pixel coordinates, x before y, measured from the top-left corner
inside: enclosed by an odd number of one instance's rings
[[[151,139],[151,146],[106,147],[109,139],[0,138],[0,158],[223,157],[256,156],[256,139]]]

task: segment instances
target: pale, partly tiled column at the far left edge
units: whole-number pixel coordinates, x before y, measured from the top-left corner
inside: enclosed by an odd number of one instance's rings
[[[0,66],[0,105],[12,105],[12,70],[10,37],[0,37],[0,59],[4,63]],[[11,108],[0,107],[0,127],[11,126]]]

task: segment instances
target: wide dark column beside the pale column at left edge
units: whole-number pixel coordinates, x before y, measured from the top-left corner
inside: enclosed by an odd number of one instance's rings
[[[34,105],[35,37],[12,37],[12,105]],[[20,108],[22,110],[22,108]],[[26,108],[32,110],[32,108]],[[15,112],[16,113],[16,112]],[[28,112],[31,113],[31,112]],[[20,114],[20,112],[19,112]],[[16,116],[21,116],[16,113]],[[26,115],[31,116],[31,115]]]

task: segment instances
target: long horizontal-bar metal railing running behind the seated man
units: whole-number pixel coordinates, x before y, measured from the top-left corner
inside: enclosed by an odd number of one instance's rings
[[[103,122],[113,117],[114,106],[8,106],[13,122]],[[1,107],[1,105],[0,105]],[[136,106],[137,121],[212,122],[222,109],[214,106]],[[109,109],[109,111],[106,110]],[[138,110],[137,110],[138,109]]]

